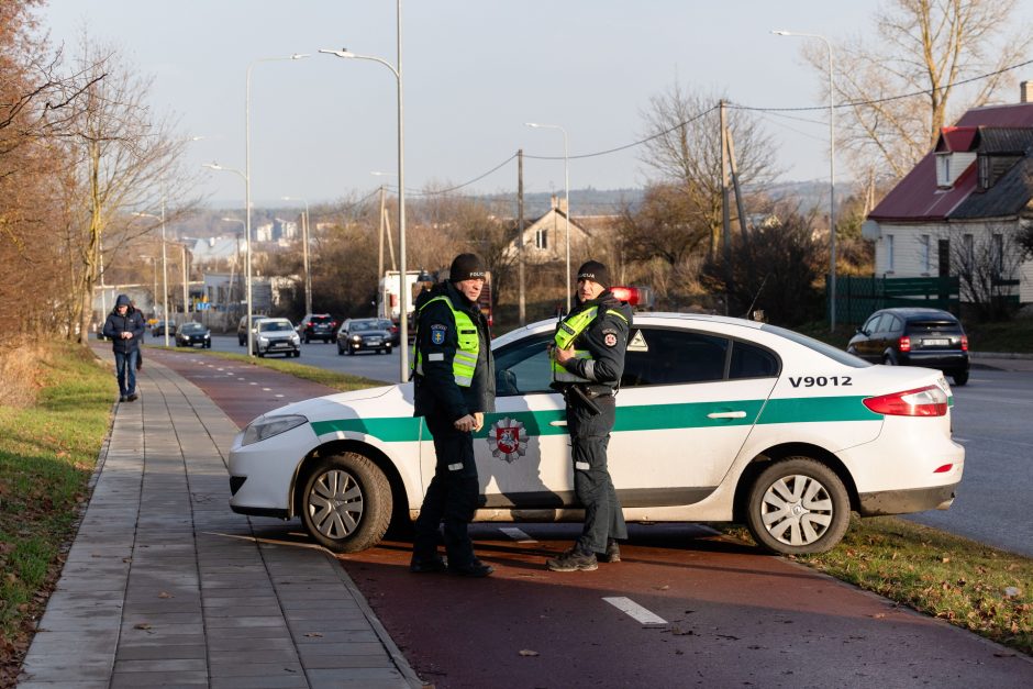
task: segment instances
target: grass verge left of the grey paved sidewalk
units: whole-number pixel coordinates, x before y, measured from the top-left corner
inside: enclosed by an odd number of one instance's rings
[[[118,385],[84,347],[33,353],[35,400],[0,404],[0,687],[15,674],[64,564]]]

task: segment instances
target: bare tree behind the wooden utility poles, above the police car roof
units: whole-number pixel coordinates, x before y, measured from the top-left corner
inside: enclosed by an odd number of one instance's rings
[[[691,216],[709,233],[710,253],[721,237],[721,137],[718,93],[687,91],[674,84],[649,99],[643,112],[645,144],[642,162],[657,182],[685,195],[678,205],[681,216]],[[727,124],[735,141],[740,184],[758,187],[777,175],[774,140],[746,110],[727,110]]]

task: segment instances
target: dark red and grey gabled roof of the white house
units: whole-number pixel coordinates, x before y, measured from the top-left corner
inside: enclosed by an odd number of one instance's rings
[[[1033,103],[974,108],[955,126],[943,127],[934,151],[901,179],[868,214],[869,220],[918,222],[947,219],[976,219],[1021,209],[1033,188],[1017,168],[1029,164],[1033,143]],[[949,189],[936,185],[936,155],[951,153],[1022,155],[1024,159],[986,191],[978,189],[977,163],[971,160]],[[981,198],[976,198],[981,197]]]

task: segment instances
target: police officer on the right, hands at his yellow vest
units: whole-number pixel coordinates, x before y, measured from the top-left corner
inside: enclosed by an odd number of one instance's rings
[[[556,330],[549,353],[555,386],[567,402],[574,490],[585,507],[581,536],[546,560],[553,571],[590,571],[598,560],[620,562],[618,538],[627,537],[624,513],[607,469],[615,394],[624,371],[631,307],[610,292],[610,271],[589,260],[577,271],[577,304]],[[598,554],[598,557],[597,557]]]

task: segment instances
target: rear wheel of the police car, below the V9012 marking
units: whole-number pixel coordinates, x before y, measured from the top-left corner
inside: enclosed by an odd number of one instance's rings
[[[843,481],[809,457],[789,457],[764,469],[746,502],[746,526],[757,545],[779,555],[832,549],[849,526]]]

